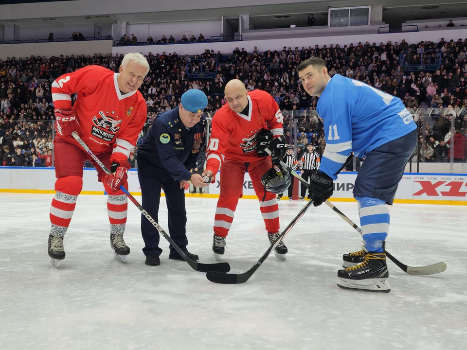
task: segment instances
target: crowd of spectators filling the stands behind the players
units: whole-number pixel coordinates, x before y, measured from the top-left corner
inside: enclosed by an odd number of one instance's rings
[[[204,40],[202,35],[200,37]],[[181,40],[200,41],[200,37]],[[134,35],[128,40],[138,42]],[[173,36],[162,37],[160,41],[169,43],[171,40],[175,40]],[[151,37],[148,41],[154,42]],[[413,50],[406,56],[406,64],[420,59],[434,61],[438,49],[442,60],[438,70],[410,71],[399,62],[399,55],[405,50]],[[297,158],[309,143],[322,154],[325,139],[323,125],[316,113],[317,99],[303,90],[296,72],[298,64],[310,56],[323,58],[331,76],[342,74],[401,98],[413,114],[419,107],[432,107],[435,112],[431,113],[430,121],[425,118],[423,122],[423,117],[417,121],[420,159],[445,161],[453,150],[456,161],[466,160],[467,151],[462,145],[466,140],[467,119],[460,111],[467,107],[467,39],[413,44],[405,40],[379,45],[365,42],[343,47],[315,45],[264,52],[256,47],[252,52],[235,48],[229,55],[213,50],[194,56],[176,52],[148,53],[150,70],[141,86],[148,107],[146,127],[162,112],[177,107],[181,94],[190,88],[199,88],[208,95],[206,111],[212,116],[226,103],[224,85],[236,78],[244,81],[249,90],[259,88],[273,96],[283,110],[288,140],[293,140],[294,136],[290,135],[291,123],[298,119]],[[51,82],[63,73],[91,64],[117,71],[122,59],[122,54],[94,54],[0,60],[1,165],[51,166],[54,117]],[[213,73],[214,78],[188,79],[188,74],[201,72]],[[454,128],[450,127],[451,123]],[[450,145],[451,135],[454,135],[454,145]]]

